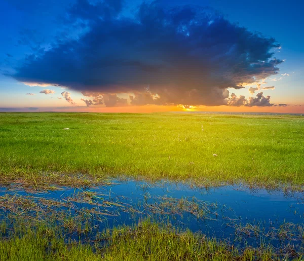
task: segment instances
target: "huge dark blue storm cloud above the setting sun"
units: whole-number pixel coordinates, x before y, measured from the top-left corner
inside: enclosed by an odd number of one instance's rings
[[[212,106],[242,103],[241,97],[229,98],[227,88],[240,89],[278,73],[282,61],[273,57],[273,48],[279,48],[275,39],[210,10],[169,10],[158,2],[141,4],[134,18],[123,17],[123,10],[120,0],[95,5],[79,0],[68,20],[90,30],[43,55],[29,56],[13,77],[95,92],[88,95],[93,99],[83,99],[87,106],[126,105],[118,93],[130,93],[133,105]],[[248,104],[271,104],[255,99]]]

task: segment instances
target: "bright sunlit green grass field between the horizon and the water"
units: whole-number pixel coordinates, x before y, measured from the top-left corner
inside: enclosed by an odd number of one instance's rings
[[[0,114],[3,179],[83,173],[302,185],[303,155],[303,117]]]

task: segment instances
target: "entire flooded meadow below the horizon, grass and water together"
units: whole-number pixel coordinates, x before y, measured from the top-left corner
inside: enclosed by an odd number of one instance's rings
[[[302,116],[2,113],[0,260],[302,260],[303,155]]]

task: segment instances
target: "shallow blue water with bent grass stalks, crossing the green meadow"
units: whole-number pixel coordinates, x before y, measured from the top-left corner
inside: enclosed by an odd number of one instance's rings
[[[282,191],[251,191],[242,186],[200,189],[166,181],[154,184],[132,180],[112,182],[106,187],[60,188],[39,193],[2,187],[0,196],[10,198],[17,194],[30,197],[39,204],[43,202],[41,199],[68,204],[58,208],[50,203],[42,206],[51,209],[50,212],[59,209],[69,213],[94,210],[91,221],[98,225],[99,230],[133,225],[150,217],[242,246],[246,242],[258,246],[261,241],[275,247],[287,243],[295,244],[297,248],[302,245],[302,193],[287,195]],[[0,208],[2,218],[9,212],[7,207]]]

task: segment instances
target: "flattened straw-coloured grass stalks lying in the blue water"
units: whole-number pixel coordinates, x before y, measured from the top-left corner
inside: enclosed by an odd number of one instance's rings
[[[223,217],[224,213],[233,212],[232,209],[220,206],[218,203],[205,202],[195,197],[176,199],[167,196],[152,197],[147,193],[142,201],[133,203],[123,196],[111,196],[89,190],[74,191],[68,195],[62,189],[59,191],[61,194],[59,198],[48,197],[48,193],[24,192],[24,190],[10,191],[0,196],[1,220],[9,220],[12,224],[19,219],[29,222],[48,220],[60,223],[66,228],[82,227],[82,223],[87,225],[89,222],[89,227],[101,228],[107,226],[108,217],[119,217],[122,213],[129,214],[128,217],[133,221],[146,217],[163,221],[187,215],[189,222],[190,218],[201,221],[215,220]],[[81,221],[78,225],[77,220]],[[71,229],[70,233],[74,232],[77,231]],[[96,230],[92,230],[90,234],[96,233]]]

